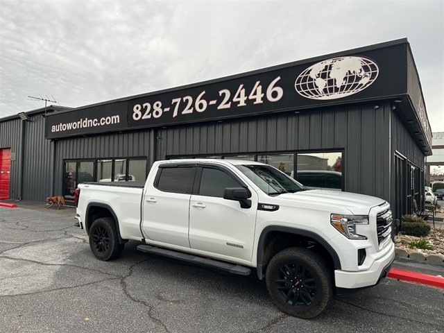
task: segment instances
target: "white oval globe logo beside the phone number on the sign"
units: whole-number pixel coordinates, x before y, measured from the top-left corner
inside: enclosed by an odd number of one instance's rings
[[[296,78],[296,92],[307,99],[342,99],[375,82],[379,69],[363,57],[339,57],[318,62]]]

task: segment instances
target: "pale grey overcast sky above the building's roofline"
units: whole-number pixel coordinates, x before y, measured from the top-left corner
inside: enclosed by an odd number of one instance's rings
[[[0,118],[407,37],[444,132],[444,1],[0,0]],[[53,104],[53,103],[49,103]]]

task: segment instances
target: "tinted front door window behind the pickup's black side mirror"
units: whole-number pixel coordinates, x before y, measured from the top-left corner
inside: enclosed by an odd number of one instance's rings
[[[199,195],[223,198],[225,187],[241,187],[232,176],[219,169],[203,168],[200,178]]]

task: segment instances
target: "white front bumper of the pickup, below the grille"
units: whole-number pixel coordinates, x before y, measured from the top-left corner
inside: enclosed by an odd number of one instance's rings
[[[376,259],[370,268],[365,271],[334,271],[336,287],[346,289],[357,289],[371,287],[381,282],[388,273],[388,268],[395,259],[395,244],[384,249],[384,255]]]

